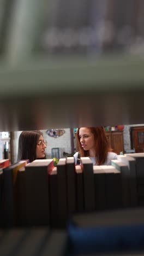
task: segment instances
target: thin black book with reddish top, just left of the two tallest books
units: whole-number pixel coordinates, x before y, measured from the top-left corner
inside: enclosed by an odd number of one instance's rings
[[[50,226],[58,228],[58,183],[57,167],[49,173],[49,196],[50,196]]]

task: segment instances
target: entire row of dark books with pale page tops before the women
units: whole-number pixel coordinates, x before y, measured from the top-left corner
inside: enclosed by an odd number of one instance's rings
[[[1,164],[1,161],[0,161]],[[91,159],[27,160],[0,165],[1,226],[65,228],[75,212],[144,205],[144,153],[118,155],[111,166]]]

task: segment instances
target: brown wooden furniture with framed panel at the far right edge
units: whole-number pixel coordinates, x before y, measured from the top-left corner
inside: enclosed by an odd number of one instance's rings
[[[130,127],[131,149],[136,153],[144,152],[144,126]]]

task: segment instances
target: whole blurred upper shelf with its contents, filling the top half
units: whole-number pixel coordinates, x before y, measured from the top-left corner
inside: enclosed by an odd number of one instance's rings
[[[142,1],[0,3],[0,131],[144,123]]]

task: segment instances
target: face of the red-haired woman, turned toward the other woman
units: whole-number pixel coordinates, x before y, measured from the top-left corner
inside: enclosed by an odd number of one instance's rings
[[[84,150],[95,149],[95,141],[93,133],[87,127],[81,127],[79,130],[81,147]]]

